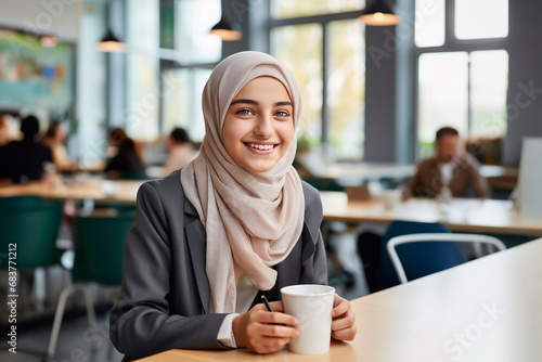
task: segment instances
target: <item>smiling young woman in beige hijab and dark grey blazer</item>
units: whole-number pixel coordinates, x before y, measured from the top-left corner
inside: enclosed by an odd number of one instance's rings
[[[327,281],[320,195],[292,166],[301,115],[292,74],[264,53],[231,55],[207,81],[203,109],[199,155],[139,192],[111,315],[126,360],[172,348],[278,351],[299,334],[281,287]],[[332,315],[332,336],[352,339],[350,303],[335,296]]]

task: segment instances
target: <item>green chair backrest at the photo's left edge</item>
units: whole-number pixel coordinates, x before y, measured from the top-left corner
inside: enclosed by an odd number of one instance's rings
[[[57,263],[56,237],[62,202],[37,196],[0,197],[0,269],[9,269],[9,249],[16,245],[17,269]],[[15,257],[15,255],[11,255]]]

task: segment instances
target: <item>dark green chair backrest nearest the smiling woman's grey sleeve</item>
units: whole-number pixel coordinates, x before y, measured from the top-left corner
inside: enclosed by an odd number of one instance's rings
[[[132,224],[133,215],[76,217],[74,282],[120,285],[125,240]]]

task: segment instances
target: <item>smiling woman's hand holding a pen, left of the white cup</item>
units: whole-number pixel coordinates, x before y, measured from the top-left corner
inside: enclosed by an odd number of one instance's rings
[[[282,301],[270,305],[274,312],[259,303],[233,320],[232,331],[237,347],[256,353],[271,353],[281,350],[292,337],[299,336],[296,329],[299,320],[284,313]]]

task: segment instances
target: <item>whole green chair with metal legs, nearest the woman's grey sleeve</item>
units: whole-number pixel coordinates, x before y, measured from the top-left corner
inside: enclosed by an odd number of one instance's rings
[[[116,217],[76,217],[74,236],[76,251],[72,270],[73,285],[65,287],[59,298],[48,357],[53,358],[59,340],[67,297],[76,289],[85,293],[92,347],[98,346],[94,305],[91,286],[119,287],[122,283],[122,254],[125,240],[133,224],[133,214]]]

